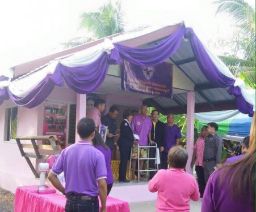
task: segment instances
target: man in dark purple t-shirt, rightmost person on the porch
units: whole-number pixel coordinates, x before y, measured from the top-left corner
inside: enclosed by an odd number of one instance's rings
[[[182,138],[181,130],[174,124],[174,114],[167,115],[167,124],[165,124],[165,142],[163,144],[162,152],[162,168],[168,168],[168,152],[173,146],[179,145],[179,139]]]

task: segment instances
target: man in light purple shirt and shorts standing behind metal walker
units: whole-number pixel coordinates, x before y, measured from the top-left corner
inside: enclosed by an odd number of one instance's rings
[[[133,116],[131,127],[134,134],[139,135],[140,140],[138,140],[138,144],[140,146],[148,146],[150,144],[154,144],[154,141],[151,140],[151,129],[152,129],[152,121],[148,115],[148,106],[141,105],[140,106],[140,114]],[[136,161],[138,159],[138,154],[140,154],[140,158],[146,158],[146,148],[140,148],[138,153],[138,144],[134,144],[132,146],[132,179],[135,179],[135,168]],[[138,169],[142,170],[144,160],[140,160],[140,167]]]

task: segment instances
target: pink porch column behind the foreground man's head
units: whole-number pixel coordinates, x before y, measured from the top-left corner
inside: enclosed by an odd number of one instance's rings
[[[77,128],[77,123],[80,119],[86,116],[86,94],[77,93],[77,113],[76,113],[76,124],[75,129]],[[79,140],[79,135],[75,131],[75,141]]]

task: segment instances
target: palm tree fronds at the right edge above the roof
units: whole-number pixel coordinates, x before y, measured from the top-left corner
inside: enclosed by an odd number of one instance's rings
[[[244,50],[244,58],[220,56],[235,76],[245,80],[245,84],[255,89],[255,8],[244,0],[218,0],[216,14],[226,12],[232,16],[244,36],[240,46]]]

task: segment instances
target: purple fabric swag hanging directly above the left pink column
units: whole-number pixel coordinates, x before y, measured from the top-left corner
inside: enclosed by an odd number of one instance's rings
[[[75,92],[91,93],[103,83],[108,66],[107,53],[103,53],[95,62],[86,66],[68,67],[58,63],[56,71]],[[56,78],[57,76],[54,76],[54,79]]]

